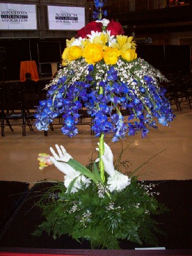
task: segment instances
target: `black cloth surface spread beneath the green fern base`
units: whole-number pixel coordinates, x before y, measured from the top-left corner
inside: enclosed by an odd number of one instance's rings
[[[150,182],[150,181],[148,181]],[[159,191],[159,202],[166,205],[170,212],[156,216],[162,223],[161,230],[166,236],[158,235],[159,246],[166,249],[192,249],[192,180],[159,180],[152,181]],[[14,221],[1,238],[0,246],[24,248],[52,248],[52,249],[91,249],[86,241],[78,243],[68,236],[52,239],[46,233],[41,237],[31,233],[44,220],[42,212],[34,204],[39,200],[50,183],[36,184],[29,192],[28,200],[21,205]],[[128,241],[122,241],[122,250],[131,250],[138,247]],[[141,246],[139,246],[141,247]],[[143,247],[148,247],[143,244]]]

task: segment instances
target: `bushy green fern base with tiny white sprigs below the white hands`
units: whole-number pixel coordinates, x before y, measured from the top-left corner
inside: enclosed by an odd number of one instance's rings
[[[68,234],[79,243],[89,241],[93,249],[120,249],[122,239],[157,246],[156,233],[161,231],[153,217],[168,210],[157,202],[153,186],[132,177],[122,191],[110,193],[91,182],[69,194],[57,183],[38,202],[45,221],[33,235],[46,231],[56,239]]]

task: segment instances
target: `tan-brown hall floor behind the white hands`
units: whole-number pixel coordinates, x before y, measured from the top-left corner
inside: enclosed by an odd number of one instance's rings
[[[122,145],[127,147],[123,159],[129,160],[129,168],[125,171],[134,172],[141,166],[137,175],[142,180],[185,180],[192,179],[192,110],[189,106],[182,106],[182,111],[177,112],[173,106],[176,118],[172,127],[150,129],[147,138],[141,135],[127,137],[123,142],[111,143],[111,138],[106,136],[106,142],[111,146],[114,158],[120,152]],[[38,169],[38,153],[51,153],[49,147],[55,144],[63,145],[67,152],[81,164],[88,164],[89,159],[97,157],[94,148],[97,147],[98,138],[90,135],[90,126],[79,125],[79,134],[76,137],[64,136],[60,129],[44,132],[29,131],[22,136],[21,127],[14,127],[11,132],[5,129],[5,136],[0,137],[0,180],[14,180],[29,182],[31,186],[39,180],[63,180],[54,166],[45,168],[42,172]],[[157,156],[155,156],[157,154]]]

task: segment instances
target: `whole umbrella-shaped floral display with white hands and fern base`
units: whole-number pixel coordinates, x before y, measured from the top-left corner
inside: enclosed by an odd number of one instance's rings
[[[63,134],[78,133],[79,109],[85,106],[93,117],[92,129],[99,138],[99,158],[89,167],[72,159],[63,146],[52,156],[40,155],[40,168],[54,164],[65,174],[40,200],[46,220],[35,234],[46,230],[56,238],[69,234],[88,239],[93,248],[119,248],[120,239],[156,244],[156,221],[152,216],[164,211],[148,186],[136,176],[124,175],[113,166],[113,153],[104,142],[111,134],[116,142],[150,127],[173,120],[170,102],[160,86],[166,78],[136,54],[132,36],[125,36],[119,22],[102,19],[104,1],[94,0],[95,21],[67,40],[62,65],[46,86],[47,100],[40,101],[36,127],[47,131],[49,124],[63,116]],[[125,119],[122,110],[129,110]],[[50,196],[53,195],[53,196]]]

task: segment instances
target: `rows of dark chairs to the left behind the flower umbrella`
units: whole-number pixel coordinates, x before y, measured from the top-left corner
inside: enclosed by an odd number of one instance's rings
[[[0,117],[1,117],[1,136],[4,136],[5,127],[9,127],[13,131],[14,126],[22,127],[22,136],[26,136],[26,127],[29,127],[30,131],[33,131],[33,124],[35,122],[35,111],[40,100],[46,99],[46,93],[21,93],[19,90],[1,90],[0,88]],[[88,115],[87,111],[82,108],[79,110],[79,125],[90,125],[91,134],[93,118]],[[86,122],[84,122],[85,118]],[[56,118],[56,121],[51,123],[50,129],[62,125],[62,115]],[[47,131],[44,131],[44,135],[47,136]]]

